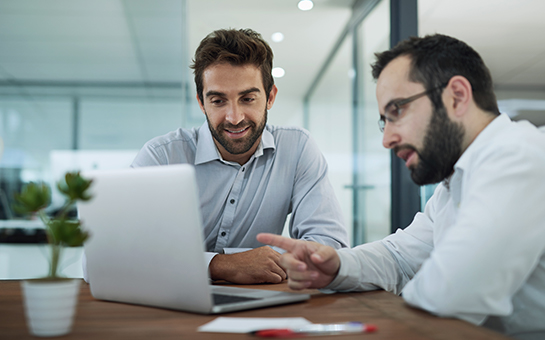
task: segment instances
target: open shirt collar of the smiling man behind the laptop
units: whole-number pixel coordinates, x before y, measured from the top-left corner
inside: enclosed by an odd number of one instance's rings
[[[261,141],[254,152],[253,158],[258,158],[263,155],[265,149],[276,149],[274,143],[274,137],[269,131],[269,126],[265,126],[263,134],[261,135]],[[250,158],[251,159],[251,158]],[[197,151],[195,153],[195,165],[211,162],[214,160],[223,161],[221,154],[214,143],[214,137],[208,127],[208,122],[205,121],[199,128],[197,139]]]

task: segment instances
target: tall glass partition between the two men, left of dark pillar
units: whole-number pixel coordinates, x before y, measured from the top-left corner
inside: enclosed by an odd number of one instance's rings
[[[382,134],[370,64],[389,47],[388,1],[359,1],[346,34],[311,87],[306,127],[329,163],[352,245],[390,233],[390,152]]]

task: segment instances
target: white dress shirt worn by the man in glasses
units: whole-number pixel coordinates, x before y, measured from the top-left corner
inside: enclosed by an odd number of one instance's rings
[[[405,229],[341,249],[334,290],[410,305],[520,339],[545,338],[545,134],[492,121]]]

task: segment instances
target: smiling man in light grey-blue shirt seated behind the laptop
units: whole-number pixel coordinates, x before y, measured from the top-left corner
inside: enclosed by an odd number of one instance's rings
[[[267,125],[278,91],[272,61],[271,48],[252,30],[209,34],[192,65],[206,122],[152,139],[132,164],[195,166],[212,279],[284,280],[280,253],[256,236],[281,234],[290,213],[292,237],[348,245],[327,163],[308,132]]]

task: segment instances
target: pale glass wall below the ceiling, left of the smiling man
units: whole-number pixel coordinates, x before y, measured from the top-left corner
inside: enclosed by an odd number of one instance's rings
[[[105,96],[31,92],[23,96],[6,94],[7,86],[2,90],[0,136],[5,152],[0,162],[0,188],[8,197],[24,182],[57,181],[61,170],[128,167],[149,139],[178,126],[196,126],[204,121],[198,108],[191,111],[193,114],[183,114],[179,89],[153,97],[127,96],[120,88],[110,88]],[[60,150],[72,152],[63,153],[66,157],[62,158]],[[101,161],[120,151],[127,157]],[[57,164],[51,163],[54,156]],[[58,170],[55,173],[53,165]],[[63,166],[65,169],[61,169]],[[4,215],[13,214],[9,205],[2,206]]]

